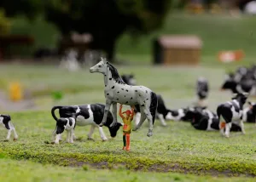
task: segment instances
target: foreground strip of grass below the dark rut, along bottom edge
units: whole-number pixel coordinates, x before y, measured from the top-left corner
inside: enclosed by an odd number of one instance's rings
[[[35,181],[253,181],[254,179],[240,178],[217,178],[211,176],[194,176],[181,173],[137,173],[125,170],[117,166],[113,170],[96,170],[94,168],[62,168],[52,165],[42,165],[34,162],[12,161],[9,159],[0,159],[0,180],[4,182],[17,181],[35,182]],[[12,172],[11,175],[9,172]]]

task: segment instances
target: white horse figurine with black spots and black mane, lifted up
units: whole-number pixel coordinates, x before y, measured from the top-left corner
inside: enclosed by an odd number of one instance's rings
[[[104,75],[105,83],[105,98],[106,105],[104,110],[104,117],[99,126],[103,126],[106,122],[107,114],[110,106],[113,105],[113,122],[111,126],[117,123],[117,103],[122,105],[140,105],[141,119],[132,131],[136,131],[140,128],[148,119],[148,134],[150,137],[153,135],[154,118],[157,108],[156,94],[149,88],[144,86],[131,86],[125,84],[122,78],[119,76],[119,72],[113,65],[111,65],[105,58],[90,68],[90,72],[100,72]],[[110,126],[110,127],[111,127]]]

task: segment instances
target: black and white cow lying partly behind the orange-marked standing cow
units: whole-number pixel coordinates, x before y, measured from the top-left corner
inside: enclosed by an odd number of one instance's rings
[[[189,108],[187,117],[191,118],[191,125],[198,130],[219,130],[218,116],[206,107]],[[230,131],[241,131],[241,127],[232,123]]]

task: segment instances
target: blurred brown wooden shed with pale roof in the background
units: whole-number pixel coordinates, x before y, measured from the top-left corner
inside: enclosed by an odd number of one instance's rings
[[[162,36],[154,43],[154,62],[164,65],[197,65],[201,39],[196,36]]]

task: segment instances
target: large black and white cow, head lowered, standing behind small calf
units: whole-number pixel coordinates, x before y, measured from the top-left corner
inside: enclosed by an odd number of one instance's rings
[[[105,105],[102,104],[90,104],[90,105],[67,105],[67,106],[54,106],[51,110],[52,117],[57,121],[55,117],[55,110],[59,109],[60,117],[72,117],[73,113],[80,113],[77,117],[76,124],[77,126],[87,126],[90,125],[90,132],[88,134],[88,139],[92,139],[91,135],[93,134],[95,128],[99,129],[99,133],[103,141],[108,138],[103,132],[102,127],[99,127],[99,124],[102,122],[104,115]],[[122,126],[122,123],[117,123],[115,126],[110,127],[110,124],[113,122],[113,115],[109,111],[107,122],[104,126],[108,127],[111,137],[115,137],[119,127]]]

